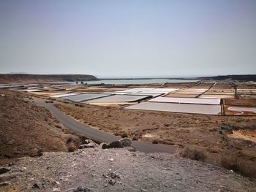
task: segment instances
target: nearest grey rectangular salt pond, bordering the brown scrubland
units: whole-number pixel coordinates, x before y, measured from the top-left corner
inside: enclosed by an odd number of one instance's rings
[[[207,104],[175,104],[175,103],[157,103],[157,102],[143,102],[129,107],[127,110],[151,110],[162,112],[184,112],[206,115],[221,115],[220,105]]]

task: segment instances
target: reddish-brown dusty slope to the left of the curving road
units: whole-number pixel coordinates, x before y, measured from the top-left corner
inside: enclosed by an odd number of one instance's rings
[[[0,94],[0,164],[45,151],[77,149],[79,137],[62,128],[44,107],[23,101],[25,93]]]

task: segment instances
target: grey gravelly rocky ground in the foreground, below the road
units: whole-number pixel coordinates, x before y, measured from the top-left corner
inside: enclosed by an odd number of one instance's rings
[[[255,180],[167,153],[84,148],[0,168],[0,191],[256,191]]]

